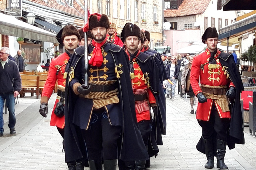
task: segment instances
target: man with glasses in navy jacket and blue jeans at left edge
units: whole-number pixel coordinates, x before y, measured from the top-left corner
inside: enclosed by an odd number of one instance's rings
[[[21,78],[17,64],[8,58],[8,47],[2,47],[0,51],[0,136],[4,135],[4,100],[9,111],[10,134],[15,134],[15,98],[21,91]]]

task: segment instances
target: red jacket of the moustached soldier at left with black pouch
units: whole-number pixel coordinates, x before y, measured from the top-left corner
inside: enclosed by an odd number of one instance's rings
[[[52,92],[55,88],[56,81],[58,82],[58,90],[65,91],[66,79],[64,79],[63,76],[65,73],[65,68],[66,68],[66,64],[68,63],[68,60],[69,60],[69,55],[66,52],[52,60],[49,68],[49,73],[48,73],[46,82],[44,84],[42,96],[47,96],[49,98],[51,97]],[[58,72],[58,75],[56,75],[58,69],[59,69],[59,72]],[[58,128],[64,128],[65,116],[59,118],[54,114],[54,109],[56,108],[56,104],[59,101],[60,101],[60,96],[57,96],[54,107],[53,107],[53,111],[52,111],[50,126],[57,126]]]

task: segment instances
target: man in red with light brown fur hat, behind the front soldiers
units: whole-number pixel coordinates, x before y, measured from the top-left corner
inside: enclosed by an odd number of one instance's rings
[[[116,32],[116,24],[115,23],[110,23],[110,28],[108,31],[108,34],[106,36],[106,40],[108,40],[109,42],[111,42],[112,44],[116,44],[119,45],[121,47],[123,47],[123,42],[120,39],[120,35]]]

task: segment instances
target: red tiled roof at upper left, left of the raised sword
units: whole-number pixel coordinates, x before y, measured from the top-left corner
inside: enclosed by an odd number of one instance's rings
[[[64,5],[59,4],[56,0],[47,0],[48,2],[45,2],[43,0],[28,0],[28,1],[40,4],[40,5],[43,5],[43,6],[47,6],[47,7],[53,8],[53,9],[57,9],[57,10],[66,12],[68,14],[77,15],[79,17],[84,16],[84,10],[76,2],[76,0],[73,1],[73,7],[69,6],[66,0],[62,0],[62,3],[64,2]]]

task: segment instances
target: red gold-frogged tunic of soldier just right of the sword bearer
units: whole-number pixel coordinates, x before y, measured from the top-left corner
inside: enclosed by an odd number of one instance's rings
[[[129,56],[129,53],[126,51]],[[140,51],[138,52],[138,54]],[[138,55],[137,55],[138,56]],[[133,94],[148,94],[148,99],[143,101],[135,101],[135,110],[137,122],[142,120],[150,120],[150,106],[149,104],[156,104],[156,99],[149,89],[148,78],[144,78],[144,75],[148,74],[143,73],[139,64],[136,62],[137,56],[133,59],[132,64],[134,68],[134,75],[131,73],[132,89]],[[129,56],[130,59],[130,56]]]

